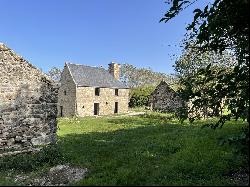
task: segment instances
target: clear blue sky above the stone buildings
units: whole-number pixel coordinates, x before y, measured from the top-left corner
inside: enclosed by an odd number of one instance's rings
[[[48,72],[65,62],[132,64],[174,73],[185,27],[200,0],[168,23],[166,0],[0,0],[0,42]]]

